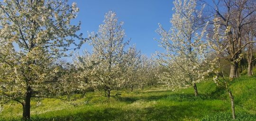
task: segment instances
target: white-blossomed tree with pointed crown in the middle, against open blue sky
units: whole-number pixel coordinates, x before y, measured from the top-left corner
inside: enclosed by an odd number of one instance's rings
[[[123,22],[118,23],[116,13],[112,11],[106,13],[103,22],[97,34],[94,32],[89,34],[93,55],[101,60],[93,67],[92,73],[97,78],[96,83],[102,85],[110,97],[110,91],[119,88],[125,81],[122,63],[124,47],[129,41],[124,40]]]

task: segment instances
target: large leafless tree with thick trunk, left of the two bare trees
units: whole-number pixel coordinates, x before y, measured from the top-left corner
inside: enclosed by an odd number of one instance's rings
[[[245,41],[242,35],[245,26],[256,22],[255,19],[247,19],[255,14],[256,3],[254,0],[213,0],[213,3],[214,16],[219,19],[220,32],[222,35],[227,33],[221,43],[226,51],[221,53],[220,59],[229,60],[231,63],[229,78],[237,78],[242,51],[248,44],[256,43],[253,40]]]

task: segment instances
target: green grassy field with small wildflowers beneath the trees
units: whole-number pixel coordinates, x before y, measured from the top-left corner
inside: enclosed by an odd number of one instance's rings
[[[256,121],[256,77],[241,77],[231,82],[235,97],[236,121]],[[228,94],[213,81],[198,84],[199,96],[193,89],[171,91],[165,87],[144,90],[120,90],[110,99],[102,91],[73,95],[73,101],[33,99],[32,121],[231,121]],[[71,104],[67,104],[71,103]],[[73,104],[73,105],[72,105]],[[4,105],[0,121],[17,121],[22,106],[15,102]]]

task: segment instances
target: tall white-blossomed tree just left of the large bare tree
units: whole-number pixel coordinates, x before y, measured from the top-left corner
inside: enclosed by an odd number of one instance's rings
[[[196,7],[197,0],[175,0],[171,29],[165,31],[159,24],[156,31],[162,37],[158,42],[165,49],[158,53],[158,62],[165,70],[159,75],[160,80],[173,89],[193,86],[195,96],[196,83],[206,74],[202,63],[207,54],[203,40],[207,23],[201,19],[204,5],[201,10]]]

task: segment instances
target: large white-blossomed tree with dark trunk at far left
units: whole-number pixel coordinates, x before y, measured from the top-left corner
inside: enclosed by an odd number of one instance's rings
[[[55,98],[74,89],[58,59],[83,43],[82,34],[76,35],[80,23],[71,25],[78,11],[67,0],[0,2],[0,103],[22,104],[23,119],[30,118],[32,97]]]

